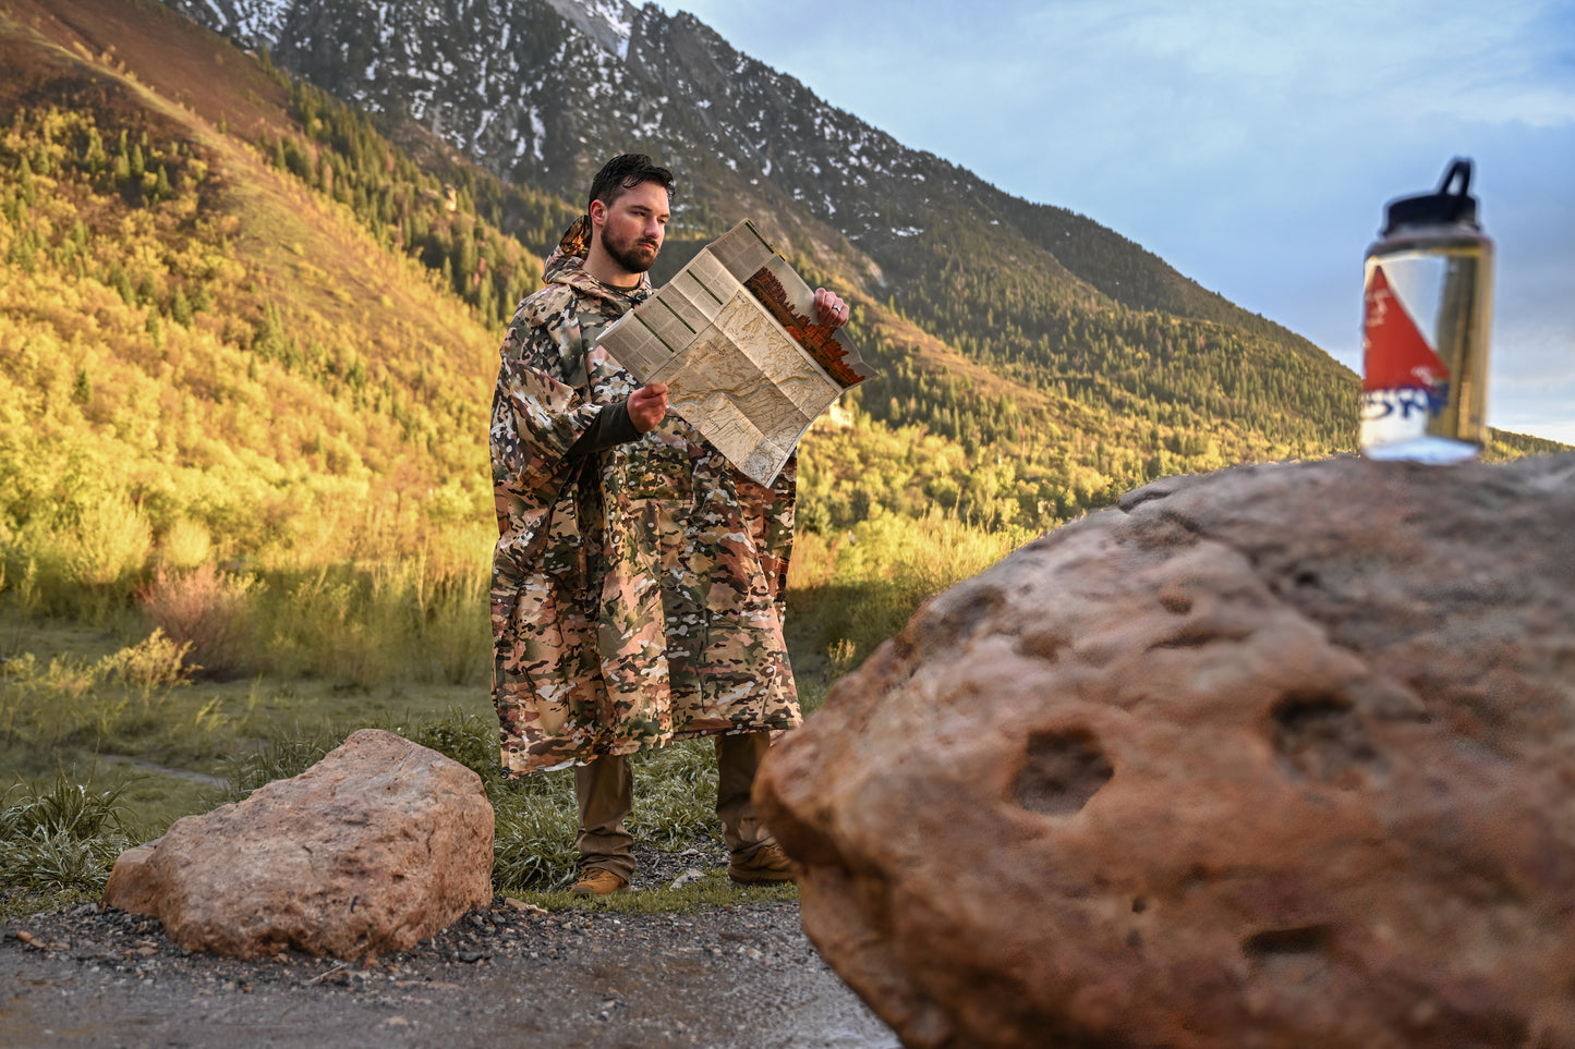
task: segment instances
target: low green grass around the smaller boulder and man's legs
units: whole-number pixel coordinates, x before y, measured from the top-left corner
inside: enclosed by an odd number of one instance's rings
[[[101,639],[99,647],[112,643]],[[94,654],[93,644],[82,644],[74,649],[72,666],[88,665]],[[36,658],[30,668],[28,680],[38,684]],[[304,772],[358,728],[398,732],[482,777],[496,817],[493,885],[499,893],[554,910],[617,912],[795,898],[791,885],[739,888],[718,869],[679,888],[643,890],[608,901],[575,899],[567,891],[578,873],[573,775],[561,770],[528,780],[502,778],[496,721],[484,690],[471,688],[463,707],[449,704],[439,710],[435,704],[441,696],[425,696],[424,707],[406,704],[395,710],[411,696],[345,695],[301,682],[274,687],[250,682],[244,688],[244,696],[236,684],[208,690],[203,702],[220,696],[225,702],[216,709],[227,717],[233,714],[233,721],[222,721],[224,728],[209,732],[202,747],[191,745],[184,720],[176,715],[165,728],[180,745],[161,736],[156,725],[131,731],[128,723],[107,721],[106,734],[90,736],[82,729],[72,737],[76,742],[46,751],[16,745],[14,739],[0,748],[0,773],[13,783],[0,816],[5,854],[0,873],[6,885],[0,891],[0,917],[98,899],[123,849],[156,838],[181,816],[209,811],[244,799],[265,783]],[[194,701],[180,693],[200,690],[183,685],[167,691],[176,698],[167,699],[164,714],[176,707],[189,710]],[[287,718],[295,718],[288,728]],[[39,725],[49,729],[47,721]],[[151,751],[143,753],[165,754],[172,764],[151,769],[145,758],[129,761],[139,747],[150,745]],[[46,767],[50,761],[54,769]],[[717,840],[715,784],[710,740],[685,740],[638,754],[630,832],[641,844],[666,851]]]

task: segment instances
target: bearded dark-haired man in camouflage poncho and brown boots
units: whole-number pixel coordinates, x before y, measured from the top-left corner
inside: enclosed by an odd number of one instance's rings
[[[597,347],[650,295],[671,187],[644,154],[608,161],[509,324],[493,397],[502,764],[575,765],[581,896],[633,876],[628,754],[695,736],[717,737],[731,877],[792,877],[750,788],[770,732],[800,723],[783,639],[795,463],[754,484],[666,414],[665,384],[636,387]],[[847,321],[824,288],[816,310]]]

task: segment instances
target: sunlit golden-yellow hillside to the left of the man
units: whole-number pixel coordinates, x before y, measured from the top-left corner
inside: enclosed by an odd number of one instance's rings
[[[534,254],[370,139],[405,233],[359,217],[291,91],[158,5],[13,3],[0,30],[3,537],[118,515],[279,561],[485,520],[499,310],[410,230],[498,244],[507,296]]]

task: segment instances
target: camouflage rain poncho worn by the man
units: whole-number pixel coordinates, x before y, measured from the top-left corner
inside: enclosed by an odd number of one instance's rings
[[[800,721],[783,641],[795,463],[764,488],[673,414],[565,458],[636,389],[595,343],[650,295],[586,274],[584,235],[581,219],[520,304],[493,397],[493,702],[510,775]]]

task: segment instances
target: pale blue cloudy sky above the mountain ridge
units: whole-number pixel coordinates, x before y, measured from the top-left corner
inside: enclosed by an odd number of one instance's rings
[[[1496,254],[1488,424],[1575,444],[1575,0],[658,6],[1356,372],[1384,203],[1471,158]]]

